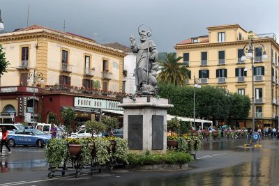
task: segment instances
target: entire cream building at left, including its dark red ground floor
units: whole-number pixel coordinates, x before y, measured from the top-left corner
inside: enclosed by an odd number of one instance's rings
[[[33,25],[0,34],[0,44],[10,63],[1,77],[2,122],[9,113],[15,122],[25,113],[47,122],[52,109],[61,116],[62,107],[74,108],[75,97],[119,101],[123,92],[125,52],[91,38]]]

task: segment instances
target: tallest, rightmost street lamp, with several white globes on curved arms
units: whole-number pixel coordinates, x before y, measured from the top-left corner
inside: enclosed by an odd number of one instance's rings
[[[262,60],[267,59],[267,55],[266,55],[266,49],[264,47],[264,45],[262,44],[256,44],[255,46],[254,44],[254,39],[253,37],[251,38],[250,42],[245,45],[243,47],[243,55],[241,56],[241,61],[246,61],[246,58],[251,59],[251,70],[252,70],[252,132],[255,132],[255,95],[254,95],[254,60],[255,60],[255,49],[257,46],[263,47],[264,52],[262,55]],[[259,50],[258,52],[262,52],[262,50]],[[247,55],[245,55],[245,53],[247,53]],[[247,68],[244,68],[244,71],[247,71]]]

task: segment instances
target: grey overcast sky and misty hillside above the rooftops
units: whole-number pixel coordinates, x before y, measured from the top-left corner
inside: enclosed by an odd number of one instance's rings
[[[99,43],[129,46],[137,28],[147,24],[159,52],[207,35],[207,26],[239,24],[246,31],[276,33],[279,37],[278,0],[0,0],[5,31],[39,24],[93,38]]]

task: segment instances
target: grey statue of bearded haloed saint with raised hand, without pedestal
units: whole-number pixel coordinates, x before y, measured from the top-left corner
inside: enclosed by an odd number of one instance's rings
[[[136,45],[135,36],[130,36],[130,47],[137,54],[135,68],[135,86],[137,86],[137,94],[153,95],[158,93],[157,71],[158,64],[157,49],[153,40],[149,39],[150,32],[142,30],[140,34],[140,44]]]

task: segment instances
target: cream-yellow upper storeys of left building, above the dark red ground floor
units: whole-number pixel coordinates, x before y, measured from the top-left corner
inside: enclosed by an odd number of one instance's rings
[[[33,25],[0,34],[0,44],[10,62],[1,86],[31,86],[28,74],[35,68],[45,85],[91,88],[91,81],[99,80],[103,90],[122,91],[126,54],[90,38]]]

